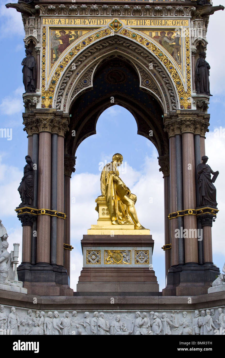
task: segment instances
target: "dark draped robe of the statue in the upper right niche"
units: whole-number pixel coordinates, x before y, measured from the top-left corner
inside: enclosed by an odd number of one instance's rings
[[[204,58],[198,58],[196,62],[196,80],[200,83],[200,93],[210,95],[209,90],[209,63]]]

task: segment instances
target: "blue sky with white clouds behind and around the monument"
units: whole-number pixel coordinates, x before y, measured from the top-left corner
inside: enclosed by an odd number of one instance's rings
[[[219,0],[214,1],[218,5]],[[0,87],[0,127],[12,128],[12,140],[0,138],[0,218],[9,234],[9,250],[13,242],[22,242],[21,224],[14,209],[20,203],[17,188],[23,176],[25,155],[27,154],[27,134],[23,131],[24,111],[22,93],[21,61],[25,57],[24,30],[21,14],[15,9],[6,9],[0,1],[1,16],[1,87]],[[214,263],[222,267],[225,261],[224,210],[225,190],[223,178],[225,156],[224,137],[216,137],[214,129],[225,128],[225,50],[221,45],[225,11],[210,16],[207,33],[209,42],[207,61],[210,63],[210,98],[208,112],[211,114],[210,132],[206,134],[206,155],[211,168],[220,171],[216,180],[217,202],[220,212],[212,227]],[[133,116],[122,107],[112,106],[102,113],[97,122],[97,134],[88,137],[77,149],[76,171],[71,179],[71,287],[76,290],[76,282],[82,269],[80,240],[91,224],[95,224],[95,198],[100,195],[101,161],[111,160],[112,154],[123,154],[126,162],[121,173],[124,182],[138,197],[137,213],[140,222],[150,229],[155,240],[153,269],[158,277],[160,289],[165,286],[163,214],[163,178],[159,173],[157,151],[151,142],[137,135],[137,125]],[[152,203],[149,198],[152,198]],[[155,215],[158,213],[158,216]],[[21,250],[21,246],[20,246]]]

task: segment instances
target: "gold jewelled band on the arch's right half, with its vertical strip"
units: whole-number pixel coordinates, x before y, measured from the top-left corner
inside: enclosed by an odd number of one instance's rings
[[[189,29],[185,28],[185,49],[186,49],[186,73],[187,73],[187,92],[183,87],[181,78],[179,77],[176,68],[173,66],[171,61],[166,57],[162,50],[158,49],[157,46],[152,44],[149,40],[145,39],[143,36],[131,32],[129,30],[121,30],[121,34],[124,36],[130,37],[131,39],[137,41],[138,43],[147,47],[153,54],[155,54],[160,61],[167,67],[168,71],[171,73],[171,77],[177,87],[177,92],[179,96],[179,101],[181,108],[190,109],[191,108],[191,80],[190,80],[190,43],[189,43]],[[189,83],[189,85],[188,85]]]

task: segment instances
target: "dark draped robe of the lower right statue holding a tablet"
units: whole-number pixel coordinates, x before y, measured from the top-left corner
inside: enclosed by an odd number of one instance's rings
[[[205,170],[204,170],[205,169]],[[197,182],[198,182],[198,204],[211,205],[216,207],[216,188],[211,180],[212,169],[208,164],[198,164]]]

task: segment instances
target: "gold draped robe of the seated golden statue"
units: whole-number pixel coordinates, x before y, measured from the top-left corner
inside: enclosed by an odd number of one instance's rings
[[[125,204],[116,196],[119,171],[113,163],[104,166],[101,172],[101,194],[106,197],[107,207],[113,224],[133,224]]]

